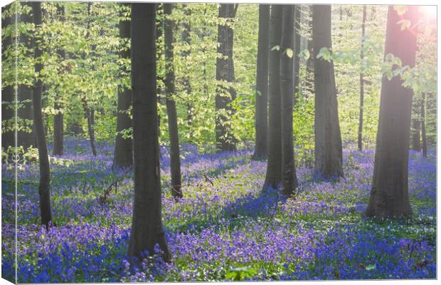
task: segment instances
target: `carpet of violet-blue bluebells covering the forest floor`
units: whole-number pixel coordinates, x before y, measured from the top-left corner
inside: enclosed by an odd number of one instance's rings
[[[298,167],[299,190],[286,199],[262,190],[265,161],[252,150],[199,153],[182,147],[184,198],[169,193],[169,155],[161,147],[163,219],[172,261],[159,255],[127,259],[132,218],[132,174],[100,195],[124,170],[112,171],[113,147],[68,138],[66,155],[51,156],[51,200],[56,227],[39,224],[38,165],[18,170],[19,283],[110,281],[221,281],[436,278],[436,165],[410,151],[413,217],[363,217],[374,150],[344,150],[339,181]],[[2,165],[2,275],[15,266],[14,172]]]

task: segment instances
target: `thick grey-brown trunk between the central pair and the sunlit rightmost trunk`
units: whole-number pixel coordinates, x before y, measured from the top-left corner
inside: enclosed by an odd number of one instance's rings
[[[343,176],[341,134],[334,64],[317,58],[323,47],[331,48],[331,5],[314,5],[315,171],[324,177]]]

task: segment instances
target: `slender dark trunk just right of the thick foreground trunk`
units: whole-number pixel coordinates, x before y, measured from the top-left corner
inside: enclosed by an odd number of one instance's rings
[[[171,14],[172,4],[164,3],[164,16]],[[164,51],[165,51],[165,91],[166,108],[169,120],[170,137],[170,173],[171,173],[171,195],[175,198],[182,198],[181,190],[181,158],[179,154],[179,133],[178,116],[176,115],[176,103],[173,95],[174,88],[174,65],[173,65],[173,28],[174,21],[164,19]]]

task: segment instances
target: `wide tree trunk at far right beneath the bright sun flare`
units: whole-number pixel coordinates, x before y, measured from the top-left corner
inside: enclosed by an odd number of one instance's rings
[[[418,21],[418,6],[408,6],[405,19]],[[403,66],[415,66],[416,31],[405,29],[397,22],[402,19],[389,6],[386,27],[385,58],[388,53],[398,56]],[[373,167],[373,185],[366,215],[368,217],[410,216],[412,209],[408,194],[408,160],[412,95],[410,88],[394,76],[383,76],[381,83],[380,116]]]

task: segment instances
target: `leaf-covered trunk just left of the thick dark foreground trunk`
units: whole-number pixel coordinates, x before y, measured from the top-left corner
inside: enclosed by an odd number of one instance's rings
[[[121,14],[123,16],[130,4],[121,5]],[[120,51],[119,56],[121,58],[130,58],[130,48],[127,46],[127,41],[130,39],[130,21],[127,19],[119,20],[119,38],[124,48]],[[122,73],[127,71],[121,70]],[[117,105],[117,135],[115,138],[115,157],[113,160],[112,168],[118,169],[121,167],[129,167],[133,164],[133,146],[132,138],[123,138],[122,130],[132,128],[132,118],[129,116],[130,105],[132,104],[132,92],[121,86],[118,91],[118,105]]]

